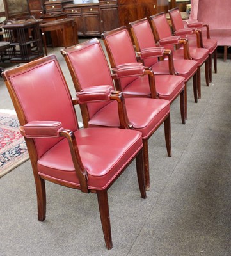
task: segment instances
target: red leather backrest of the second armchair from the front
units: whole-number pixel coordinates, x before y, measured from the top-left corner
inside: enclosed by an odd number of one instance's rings
[[[97,85],[110,85],[114,88],[111,71],[99,41],[90,45],[81,44],[75,47],[73,51],[68,51],[67,55],[82,89]],[[87,104],[89,117],[92,118],[99,109],[108,103]]]

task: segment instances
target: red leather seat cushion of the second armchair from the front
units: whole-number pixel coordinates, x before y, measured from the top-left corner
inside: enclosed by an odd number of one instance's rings
[[[150,98],[126,98],[127,115],[134,129],[142,132],[143,139],[148,138],[170,113],[168,100]],[[90,125],[119,127],[117,102],[113,101],[102,108],[90,120]],[[105,118],[107,116],[107,118]]]

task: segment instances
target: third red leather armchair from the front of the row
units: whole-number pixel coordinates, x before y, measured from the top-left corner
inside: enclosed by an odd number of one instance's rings
[[[112,68],[125,63],[137,63],[136,52],[129,31],[125,26],[102,33]],[[116,84],[125,97],[157,97],[173,102],[180,96],[180,113],[182,124],[185,124],[184,77],[170,74],[155,76],[156,96],[151,92],[148,77],[121,77]]]

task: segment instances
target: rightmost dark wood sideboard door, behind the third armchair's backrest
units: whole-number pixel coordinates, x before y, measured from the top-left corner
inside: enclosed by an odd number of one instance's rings
[[[110,31],[119,27],[117,7],[100,8],[101,32]]]

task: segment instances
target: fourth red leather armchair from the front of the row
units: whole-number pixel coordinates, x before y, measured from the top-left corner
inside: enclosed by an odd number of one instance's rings
[[[156,75],[174,74],[171,72],[171,66],[173,66],[175,74],[184,77],[184,105],[187,118],[187,81],[189,81],[191,77],[193,77],[194,98],[195,102],[197,102],[197,62],[184,58],[173,60],[173,49],[169,50],[168,47],[163,47],[164,45],[157,47],[152,28],[147,18],[131,22],[129,26],[136,45],[136,51],[140,53],[145,66],[151,67]],[[170,39],[172,40],[170,41]],[[175,38],[169,38],[166,44],[172,44],[172,42],[173,44],[179,44],[179,42],[181,42],[180,36],[178,38],[177,36]],[[164,61],[158,60],[158,49],[163,49],[163,51],[168,54],[166,54]],[[157,51],[157,54],[155,54],[154,50]],[[150,52],[150,54],[142,56],[143,52]],[[161,56],[160,53],[159,56]]]

